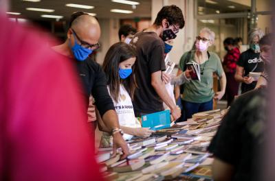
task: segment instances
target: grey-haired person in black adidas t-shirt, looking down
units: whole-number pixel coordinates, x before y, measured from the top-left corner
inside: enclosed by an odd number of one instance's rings
[[[249,76],[250,72],[262,72],[263,60],[260,58],[259,40],[263,37],[263,31],[259,28],[252,29],[249,34],[250,49],[241,53],[236,66],[235,80],[241,82],[241,93],[253,90],[257,80]]]

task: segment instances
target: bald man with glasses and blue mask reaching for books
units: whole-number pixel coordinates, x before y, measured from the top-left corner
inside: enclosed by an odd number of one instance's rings
[[[76,64],[78,75],[83,82],[85,111],[87,112],[89,106],[89,95],[93,95],[103,121],[99,128],[113,135],[113,150],[122,147],[124,152],[122,158],[124,158],[129,154],[129,148],[122,138],[123,132],[120,130],[118,115],[115,113],[113,101],[107,90],[104,71],[98,63],[89,58],[89,54],[100,46],[99,38],[100,25],[98,21],[89,14],[76,12],[72,15],[72,21],[67,31],[67,40],[53,49]]]

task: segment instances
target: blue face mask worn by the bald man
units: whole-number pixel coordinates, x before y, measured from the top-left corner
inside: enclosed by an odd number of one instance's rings
[[[79,60],[79,61],[86,60],[86,58],[89,56],[89,54],[93,53],[93,50],[81,47],[76,42],[76,36],[75,35],[74,35],[74,47],[72,47],[71,41],[69,41],[69,47],[71,47],[71,49],[74,53],[74,58],[76,58],[76,60]]]

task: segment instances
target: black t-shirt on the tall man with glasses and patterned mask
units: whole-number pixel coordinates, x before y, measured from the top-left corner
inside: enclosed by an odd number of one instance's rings
[[[133,108],[135,116],[164,110],[163,101],[151,85],[151,74],[164,71],[164,42],[155,32],[135,34],[131,45],[137,50],[137,88]]]

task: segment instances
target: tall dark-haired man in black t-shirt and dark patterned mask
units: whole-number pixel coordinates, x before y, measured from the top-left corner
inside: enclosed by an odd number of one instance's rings
[[[164,110],[163,102],[170,108],[173,119],[180,117],[180,110],[168,95],[162,81],[164,41],[176,37],[184,27],[184,16],[176,5],[167,5],[157,14],[155,23],[135,34],[131,45],[137,50],[137,89],[133,100],[135,116]]]

